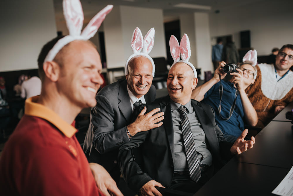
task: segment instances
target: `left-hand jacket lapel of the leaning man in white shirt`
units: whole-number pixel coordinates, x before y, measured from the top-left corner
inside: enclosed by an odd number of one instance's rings
[[[120,102],[118,102],[118,107],[125,117],[125,119],[130,122],[131,120],[131,115],[132,115],[132,110],[131,110],[131,105],[130,105],[130,98],[127,92],[127,83],[126,80],[121,82],[120,87],[119,87],[119,93],[118,93],[118,99]]]

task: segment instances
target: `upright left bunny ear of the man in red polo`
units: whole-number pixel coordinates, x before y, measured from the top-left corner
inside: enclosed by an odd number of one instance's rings
[[[63,12],[71,36],[79,36],[84,22],[84,12],[79,0],[63,0]]]

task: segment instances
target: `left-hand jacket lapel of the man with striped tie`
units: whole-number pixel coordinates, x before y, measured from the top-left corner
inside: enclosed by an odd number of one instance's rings
[[[163,126],[165,127],[166,136],[168,138],[170,151],[174,163],[174,129],[173,129],[173,121],[172,121],[172,111],[171,111],[171,104],[170,104],[170,97],[167,96],[163,102],[160,103],[161,111],[164,114]]]

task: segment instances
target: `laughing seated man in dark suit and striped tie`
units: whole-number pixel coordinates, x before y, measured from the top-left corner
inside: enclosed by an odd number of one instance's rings
[[[159,107],[165,113],[163,126],[140,132],[120,147],[120,170],[127,185],[139,195],[161,196],[155,186],[195,193],[213,175],[214,168],[223,165],[224,159],[253,147],[253,137],[250,141],[244,140],[247,129],[234,144],[226,141],[214,120],[212,107],[190,99],[196,85],[196,72],[191,65],[182,61],[174,63],[167,79],[169,95],[147,104],[148,111]],[[185,108],[188,120],[185,117],[183,121],[179,108]],[[185,134],[186,122],[190,122],[189,135]],[[196,152],[189,153],[185,139],[194,141]],[[132,155],[133,149],[138,147],[143,164],[137,163]],[[198,162],[194,166],[198,169],[197,178],[191,175],[195,169],[190,170],[195,162]]]

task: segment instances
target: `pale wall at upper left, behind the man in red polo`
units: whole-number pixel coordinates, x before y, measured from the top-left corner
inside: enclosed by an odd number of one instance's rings
[[[0,1],[0,7],[0,72],[38,68],[42,46],[57,36],[53,1]]]

